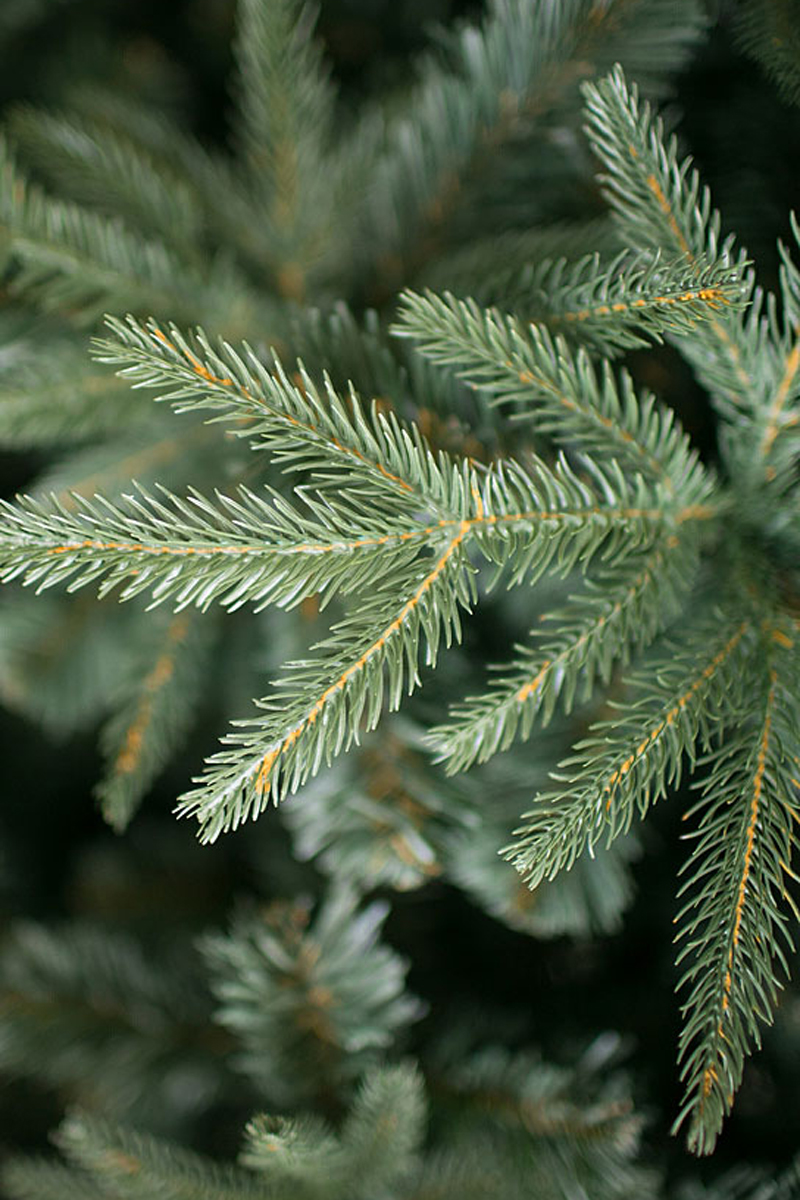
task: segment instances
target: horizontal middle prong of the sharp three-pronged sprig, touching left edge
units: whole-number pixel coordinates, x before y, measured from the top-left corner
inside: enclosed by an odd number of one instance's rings
[[[350,593],[378,583],[441,540],[457,522],[409,526],[360,505],[313,498],[307,510],[278,493],[237,498],[199,493],[162,499],[139,488],[119,503],[104,497],[0,500],[0,578],[22,577],[38,589],[77,590],[98,583],[107,595],[124,584],[120,599],[152,593],[152,605],[221,604],[291,607],[323,593]]]

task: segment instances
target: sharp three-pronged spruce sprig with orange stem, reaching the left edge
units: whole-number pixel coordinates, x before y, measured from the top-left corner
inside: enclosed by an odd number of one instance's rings
[[[684,526],[715,512],[705,503],[710,482],[675,498],[615,463],[587,461],[578,475],[565,458],[548,464],[530,456],[479,470],[465,458],[434,455],[419,431],[393,416],[367,414],[353,392],[345,400],[330,384],[320,392],[308,374],[295,385],[252,352],[245,359],[225,346],[213,350],[201,336],[188,342],[175,329],[167,335],[132,318],[114,329],[121,341],[101,343],[98,355],[126,362],[136,384],[167,385],[163,398],[181,412],[243,416],[237,432],[272,449],[291,472],[311,473],[300,496],[313,520],[278,496],[270,509],[247,493],[218,506],[198,494],[168,497],[168,506],[143,493],[125,508],[80,502],[74,514],[58,500],[25,500],[7,509],[5,577],[72,588],[102,577],[101,594],[130,580],[122,598],[148,589],[156,602],[179,607],[215,599],[285,605],[320,586],[326,596],[339,590],[360,599],[319,646],[318,661],[291,667],[277,696],[259,702],[266,715],[228,736],[200,787],[182,800],[206,840],[300,786],[357,738],[362,721],[372,728],[384,690],[396,708],[403,690],[415,688],[421,642],[433,666],[440,642],[459,636],[458,610],[471,606],[470,546],[510,582],[530,584],[546,571],[587,570],[601,553],[621,563],[657,539],[674,539],[674,552]],[[577,406],[579,376],[572,372],[565,388]],[[628,412],[638,432],[632,395]],[[331,502],[331,488],[338,493],[343,484],[348,491]],[[386,517],[367,515],[375,499]],[[323,584],[320,563],[329,557],[339,566],[323,568]],[[360,559],[378,565],[350,570]]]

